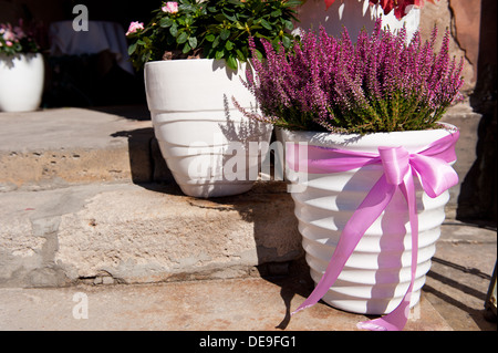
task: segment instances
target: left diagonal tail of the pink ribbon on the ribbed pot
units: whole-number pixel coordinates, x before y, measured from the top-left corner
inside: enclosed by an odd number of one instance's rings
[[[292,312],[292,315],[298,311],[314,305],[323,295],[325,295],[339,278],[339,274],[360,239],[390,204],[395,190],[396,186],[387,184],[385,175],[378,179],[344,226],[338,246],[321,280],[310,297]]]

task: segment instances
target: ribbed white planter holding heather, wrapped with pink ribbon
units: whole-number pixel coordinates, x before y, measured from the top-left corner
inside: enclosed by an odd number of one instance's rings
[[[286,142],[308,142],[311,145],[373,153],[377,152],[378,146],[404,146],[409,153],[415,153],[447,134],[449,133],[446,129],[434,129],[380,133],[361,137],[282,131],[282,138]],[[304,191],[293,193],[292,198],[307,261],[315,283],[325,271],[344,225],[382,173],[380,165],[344,173],[307,176],[287,169],[287,177],[294,184],[308,179]],[[416,178],[415,185],[419,250],[411,307],[419,300],[421,288],[430,268],[435,242],[439,238],[440,225],[445,219],[445,205],[449,200],[448,191],[430,198],[422,190]],[[406,205],[402,198],[401,191],[396,191],[383,215],[367,229],[339,279],[322,298],[324,302],[362,314],[388,313],[400,304],[411,281],[412,256],[408,211],[406,207],[400,207],[401,204]],[[401,243],[403,246],[400,246]]]

